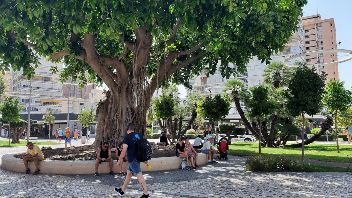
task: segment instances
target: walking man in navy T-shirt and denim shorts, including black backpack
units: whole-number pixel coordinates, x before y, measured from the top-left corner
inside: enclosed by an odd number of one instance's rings
[[[128,184],[131,181],[132,173],[134,173],[137,178],[140,186],[143,189],[143,195],[140,198],[148,198],[149,194],[147,191],[147,185],[142,175],[142,171],[140,169],[140,161],[143,161],[145,164],[148,163],[148,159],[151,159],[153,154],[149,142],[138,133],[134,132],[136,126],[133,123],[129,123],[126,126],[127,135],[125,136],[122,143],[124,146],[122,148],[122,152],[120,156],[125,156],[127,152],[127,160],[130,164],[127,169],[127,175],[125,178],[124,185],[121,188],[115,188],[115,191],[119,193],[120,196],[124,196],[124,191],[126,190]],[[146,149],[146,147],[148,147]],[[144,150],[141,150],[144,149]],[[138,150],[138,152],[136,152]],[[151,155],[149,156],[151,152]],[[146,156],[147,155],[147,156]],[[137,161],[137,159],[139,161]],[[145,160],[145,161],[144,161]],[[123,162],[123,157],[119,158],[117,165],[119,166]]]

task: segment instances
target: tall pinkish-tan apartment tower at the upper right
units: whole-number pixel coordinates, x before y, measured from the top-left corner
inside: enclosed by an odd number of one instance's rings
[[[321,19],[320,14],[303,17],[302,25],[304,27],[305,50],[326,50],[337,49],[336,29],[334,19]],[[316,55],[307,55],[308,64],[329,63],[337,61],[337,53],[317,53]],[[328,79],[339,79],[338,64],[320,66],[319,72],[327,73]],[[326,83],[328,80],[326,81]]]

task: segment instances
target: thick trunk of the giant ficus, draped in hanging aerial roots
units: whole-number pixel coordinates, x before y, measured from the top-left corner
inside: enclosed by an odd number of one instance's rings
[[[146,110],[148,108],[145,99],[138,103],[135,98],[137,93],[133,86],[120,86],[117,90],[108,92],[107,99],[99,105],[99,112],[104,109],[105,117],[98,112],[98,123],[100,136],[95,139],[94,146],[98,147],[101,141],[108,142],[111,148],[118,147],[126,135],[128,123],[136,125],[135,132],[146,138]]]

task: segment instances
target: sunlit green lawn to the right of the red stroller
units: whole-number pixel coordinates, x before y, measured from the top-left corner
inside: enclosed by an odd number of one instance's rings
[[[326,150],[322,150],[325,147]],[[308,144],[304,146],[306,159],[345,162],[348,163],[347,154],[352,154],[352,145],[339,145],[340,153],[337,153],[336,145],[333,144]],[[237,156],[252,156],[259,154],[258,143],[236,142],[229,146],[228,154]],[[301,158],[301,147],[298,148],[268,148],[262,147],[263,155],[286,156]],[[343,171],[342,171],[343,172]]]

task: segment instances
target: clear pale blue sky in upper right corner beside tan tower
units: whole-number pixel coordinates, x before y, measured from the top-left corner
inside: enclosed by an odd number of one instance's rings
[[[352,26],[351,26],[352,0],[308,0],[303,7],[303,17],[320,14],[322,19],[334,18],[336,27],[337,48],[352,50]],[[346,55],[338,53],[338,59],[346,58]],[[352,56],[352,55],[349,55]],[[352,86],[352,60],[339,64],[339,79],[345,81],[345,87]]]

